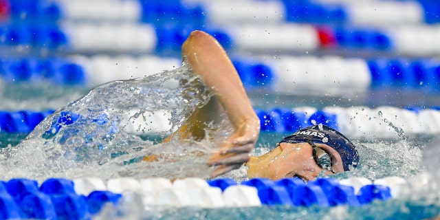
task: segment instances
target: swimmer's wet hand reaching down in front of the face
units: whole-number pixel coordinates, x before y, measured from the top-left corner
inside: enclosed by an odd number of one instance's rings
[[[214,153],[210,158],[208,166],[218,166],[212,171],[210,177],[214,178],[228,173],[248,162],[250,153],[259,138],[259,133],[259,120],[247,119],[239,124],[228,140],[221,143],[219,152]]]

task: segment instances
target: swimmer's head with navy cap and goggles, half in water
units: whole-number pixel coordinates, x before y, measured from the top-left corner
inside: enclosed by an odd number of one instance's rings
[[[285,137],[278,146],[246,164],[249,177],[316,179],[355,168],[359,156],[353,143],[335,129],[323,124],[300,129]]]

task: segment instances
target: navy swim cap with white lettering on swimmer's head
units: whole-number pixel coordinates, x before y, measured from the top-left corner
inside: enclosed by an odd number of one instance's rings
[[[300,129],[285,137],[280,143],[303,143],[307,140],[318,144],[327,144],[338,151],[345,171],[350,170],[349,166],[358,166],[359,155],[355,145],[342,133],[324,124],[316,124]]]

